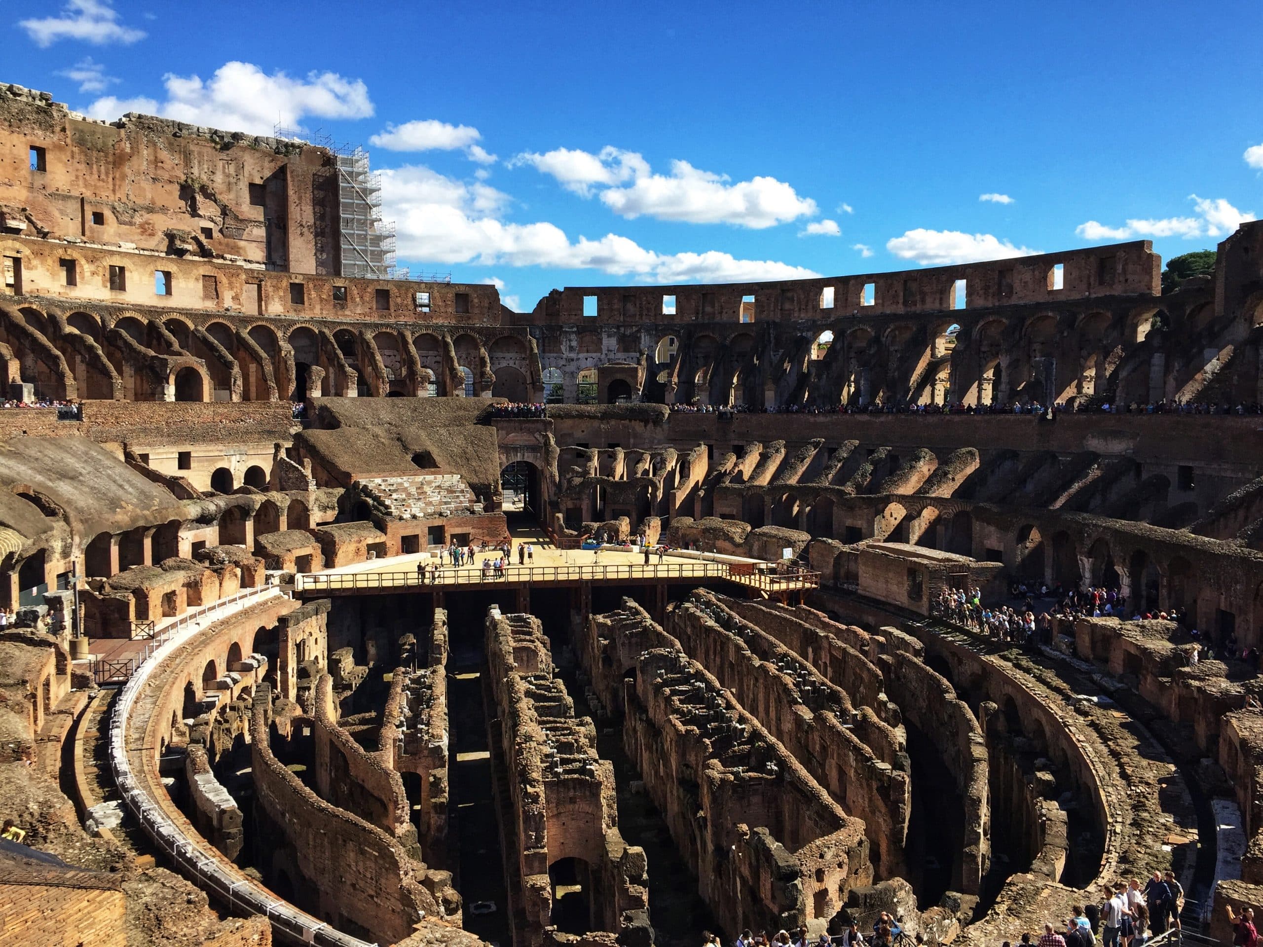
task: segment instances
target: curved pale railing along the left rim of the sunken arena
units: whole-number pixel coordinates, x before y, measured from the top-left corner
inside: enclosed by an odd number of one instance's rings
[[[317,944],[318,947],[378,947],[357,937],[344,934],[328,924],[303,913],[288,902],[280,900],[263,885],[226,867],[210,855],[202,846],[210,843],[198,837],[191,837],[173,822],[162,807],[150,799],[131,770],[128,759],[126,731],[133,703],[140,689],[162,662],[182,645],[196,631],[203,630],[220,617],[227,617],[240,607],[253,605],[280,595],[275,586],[251,588],[245,592],[221,599],[213,605],[191,611],[167,625],[154,638],[138,658],[135,673],[124,684],[116,698],[110,718],[110,765],[114,779],[128,812],[140,823],[154,843],[167,854],[172,862],[193,884],[203,891],[213,894],[230,910],[248,914],[261,914],[272,923],[278,939],[296,944]],[[240,606],[240,607],[234,607]],[[203,619],[211,619],[207,625],[193,628]]]

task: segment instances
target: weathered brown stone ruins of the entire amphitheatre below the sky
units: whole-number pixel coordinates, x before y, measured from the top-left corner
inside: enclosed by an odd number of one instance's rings
[[[1263,223],[518,313],[362,153],[0,143],[6,944],[1260,907]]]

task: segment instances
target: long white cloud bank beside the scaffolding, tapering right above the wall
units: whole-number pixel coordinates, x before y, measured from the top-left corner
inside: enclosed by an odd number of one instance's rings
[[[554,223],[503,220],[509,197],[481,182],[465,182],[421,165],[381,172],[385,216],[395,221],[399,255],[433,263],[595,269],[657,283],[740,282],[816,277],[774,260],[730,254],[659,254],[616,234],[571,240]]]

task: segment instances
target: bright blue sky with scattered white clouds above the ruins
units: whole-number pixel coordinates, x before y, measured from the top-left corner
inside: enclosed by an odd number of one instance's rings
[[[400,264],[522,309],[1125,239],[1170,258],[1263,215],[1258,0],[3,14],[0,81],[95,117],[362,144]]]

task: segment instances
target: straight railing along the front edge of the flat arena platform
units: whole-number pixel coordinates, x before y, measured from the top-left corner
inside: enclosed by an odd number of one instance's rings
[[[506,566],[501,569],[441,566],[437,572],[298,573],[296,592],[336,592],[362,588],[452,588],[457,586],[536,585],[563,582],[661,582],[725,578],[769,592],[820,586],[820,573],[808,569],[767,572],[726,562],[618,563],[592,566]]]

